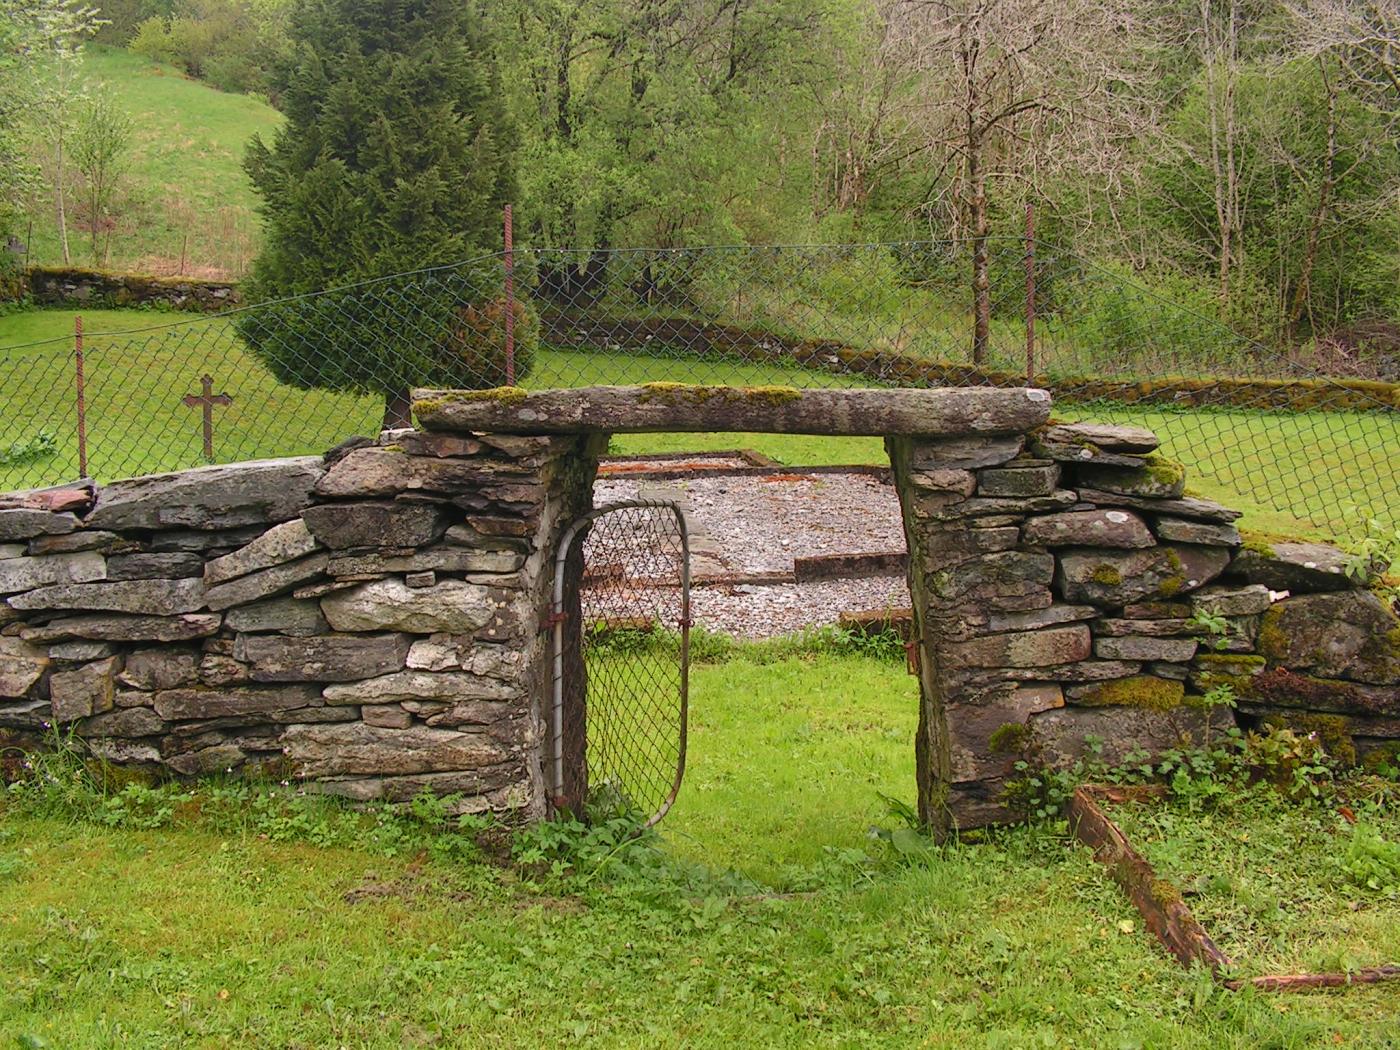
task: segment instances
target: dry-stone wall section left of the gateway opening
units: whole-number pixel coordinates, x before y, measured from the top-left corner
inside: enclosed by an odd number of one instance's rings
[[[3,497],[0,742],[540,816],[540,626],[589,448],[405,431]]]

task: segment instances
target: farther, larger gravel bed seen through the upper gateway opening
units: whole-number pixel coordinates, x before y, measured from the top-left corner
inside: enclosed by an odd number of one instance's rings
[[[797,557],[904,550],[899,497],[871,475],[795,468],[757,477],[608,477],[596,482],[594,501],[664,491],[683,498],[693,532],[732,574],[791,573]]]

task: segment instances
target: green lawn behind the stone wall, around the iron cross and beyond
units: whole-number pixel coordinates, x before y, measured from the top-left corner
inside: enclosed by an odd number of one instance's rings
[[[216,410],[217,459],[322,452],[351,434],[372,434],[382,410],[374,398],[297,391],[277,384],[232,336],[223,318],[181,319],[150,311],[83,314],[87,339],[90,473],[112,479],[172,470],[203,461],[200,416],[181,396],[209,372],[234,403]],[[102,333],[139,329],[132,335]],[[0,316],[0,449],[41,430],[57,454],[0,468],[0,490],[67,480],[77,473],[73,409],[73,315],[29,311]],[[847,382],[792,365],[543,350],[528,385],[582,386],[657,381],[743,385]],[[35,393],[38,392],[38,393]],[[1394,518],[1400,505],[1400,413],[1170,410],[1121,405],[1063,406],[1067,419],[1138,423],[1155,430],[1166,455],[1187,466],[1190,490],[1246,512],[1245,524],[1271,535],[1348,536],[1368,518]],[[885,463],[879,438],[788,434],[634,434],[617,452],[755,448],[792,465]]]

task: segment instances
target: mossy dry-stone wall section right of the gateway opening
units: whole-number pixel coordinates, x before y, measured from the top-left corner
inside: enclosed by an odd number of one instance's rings
[[[1015,763],[1071,763],[1089,738],[1109,763],[1236,718],[1317,732],[1344,762],[1400,748],[1400,620],[1365,589],[1369,570],[1316,543],[1246,546],[1239,514],[1186,496],[1156,444],[1089,424],[888,441],[921,644],[924,819],[1008,819]],[[1238,710],[1204,701],[1221,683]]]

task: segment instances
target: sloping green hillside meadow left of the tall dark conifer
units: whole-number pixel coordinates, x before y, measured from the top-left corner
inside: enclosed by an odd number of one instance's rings
[[[281,116],[248,95],[189,80],[171,66],[113,48],[90,48],[90,81],[106,84],[136,120],[109,269],[238,276],[258,237],[256,197],[242,169],[255,133],[270,136]],[[36,200],[31,255],[60,263],[52,199]],[[76,265],[91,263],[88,227],[69,230]]]

